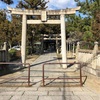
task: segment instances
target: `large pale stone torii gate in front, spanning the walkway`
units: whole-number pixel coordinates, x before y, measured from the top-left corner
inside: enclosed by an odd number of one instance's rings
[[[61,48],[62,48],[62,62],[67,62],[66,57],[66,33],[65,33],[65,15],[74,14],[80,7],[65,9],[65,10],[22,10],[8,7],[11,14],[22,15],[22,41],[21,41],[21,57],[22,63],[26,63],[26,31],[27,24],[61,24]],[[27,15],[40,15],[41,20],[27,20]],[[59,15],[60,20],[49,20],[47,15]],[[63,65],[63,68],[66,68]]]

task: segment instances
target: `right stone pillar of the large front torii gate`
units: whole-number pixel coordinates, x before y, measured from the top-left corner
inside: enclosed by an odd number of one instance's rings
[[[61,52],[62,52],[62,63],[67,62],[66,56],[66,32],[65,32],[65,15],[61,14]],[[63,68],[67,68],[66,64],[63,64]]]

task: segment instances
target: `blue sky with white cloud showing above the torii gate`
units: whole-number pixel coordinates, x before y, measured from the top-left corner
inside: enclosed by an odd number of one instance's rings
[[[14,4],[10,5],[10,7],[15,8],[16,4],[19,0],[13,0]],[[45,0],[48,1],[48,0]],[[81,0],[84,1],[84,0]],[[7,8],[7,4],[0,1],[0,9]],[[48,4],[49,10],[56,10],[56,9],[66,9],[66,8],[74,8],[76,7],[76,2],[74,0],[49,0]]]

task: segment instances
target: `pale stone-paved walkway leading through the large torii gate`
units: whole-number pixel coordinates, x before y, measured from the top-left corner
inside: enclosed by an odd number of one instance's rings
[[[45,62],[57,62],[56,54],[47,53],[41,55],[33,62],[31,66],[31,87],[0,87],[0,100],[100,100],[100,94],[85,85],[83,87],[66,87],[66,84],[70,84],[71,81],[64,79],[55,81],[47,80],[45,82],[47,86],[43,87],[42,65]],[[71,70],[74,70],[74,67]],[[73,75],[68,75],[66,71],[69,71],[69,69],[62,69],[60,65],[47,65],[45,66],[45,78]],[[26,77],[27,69],[19,72],[18,75]],[[17,79],[15,81],[18,82]],[[72,84],[74,83],[78,82],[73,80]]]

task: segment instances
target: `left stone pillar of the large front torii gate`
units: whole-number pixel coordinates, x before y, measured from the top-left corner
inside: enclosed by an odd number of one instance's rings
[[[21,57],[22,63],[26,63],[26,27],[27,27],[27,16],[22,16],[22,41],[21,41]]]

